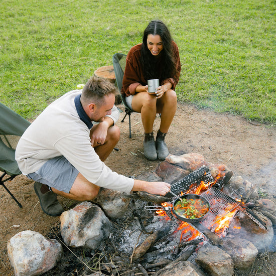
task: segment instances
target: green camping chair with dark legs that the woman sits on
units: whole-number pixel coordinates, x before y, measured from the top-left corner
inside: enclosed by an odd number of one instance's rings
[[[121,88],[122,88],[122,78],[123,78],[124,68],[125,68],[125,59],[126,59],[126,55],[121,54],[121,53],[116,53],[112,57],[112,63],[113,63],[116,83],[117,83],[117,87],[119,89],[119,92],[121,91]],[[121,122],[123,122],[126,115],[128,115],[128,119],[129,119],[128,120],[129,121],[129,138],[131,138],[130,114],[134,111],[127,106],[127,104],[125,102],[125,95],[120,93],[120,96],[121,96],[121,100],[122,100],[122,103],[124,105],[124,111],[125,111],[125,115],[124,115],[123,119],[121,120]]]

